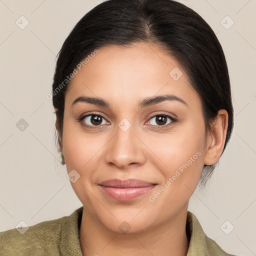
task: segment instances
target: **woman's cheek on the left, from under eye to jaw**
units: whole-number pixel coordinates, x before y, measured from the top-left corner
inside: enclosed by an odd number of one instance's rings
[[[98,166],[102,142],[86,134],[77,124],[65,123],[63,128],[63,153],[67,172],[75,170],[75,181],[70,182],[76,196],[93,211],[94,197],[92,180]],[[77,178],[78,177],[78,178]],[[95,209],[94,209],[95,210]]]

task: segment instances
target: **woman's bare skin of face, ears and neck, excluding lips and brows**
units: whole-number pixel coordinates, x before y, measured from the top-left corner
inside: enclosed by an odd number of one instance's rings
[[[60,147],[67,172],[80,175],[70,182],[84,205],[79,239],[83,255],[186,255],[189,240],[185,232],[186,212],[204,164],[219,159],[226,136],[227,112],[218,116],[205,133],[198,94],[189,84],[182,66],[153,43],[129,47],[107,46],[72,78],[65,96],[63,131]],[[169,72],[178,67],[182,75],[174,80]],[[165,100],[139,108],[146,97],[173,94]],[[72,102],[78,96],[100,97],[109,107],[87,102]],[[90,117],[101,114],[94,129]],[[177,119],[170,126],[156,122],[162,113]],[[131,126],[123,131],[118,123],[126,118]],[[165,127],[164,127],[165,126]],[[153,202],[149,201],[175,171],[196,152],[200,156]],[[148,193],[122,202],[109,198],[98,183],[106,179],[136,178],[157,185]],[[129,230],[118,226],[126,221]],[[96,254],[97,253],[97,254]]]

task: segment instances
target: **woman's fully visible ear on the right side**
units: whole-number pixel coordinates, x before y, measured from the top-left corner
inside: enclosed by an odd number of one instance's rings
[[[214,122],[211,124],[211,130],[206,136],[204,164],[211,165],[218,161],[225,144],[227,126],[227,111],[225,109],[220,109]]]

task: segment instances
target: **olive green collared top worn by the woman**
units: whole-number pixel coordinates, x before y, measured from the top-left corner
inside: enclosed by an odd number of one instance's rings
[[[23,234],[18,227],[0,232],[0,255],[82,256],[79,243],[82,209],[83,206],[69,216],[29,226]],[[187,211],[186,228],[190,240],[187,256],[234,256],[206,236],[198,219],[190,211]]]

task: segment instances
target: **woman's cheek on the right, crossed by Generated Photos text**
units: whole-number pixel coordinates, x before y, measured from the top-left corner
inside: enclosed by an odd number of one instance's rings
[[[168,139],[158,140],[162,146],[156,154],[167,167],[161,169],[164,180],[149,201],[164,216],[171,211],[174,214],[189,200],[203,167],[204,125],[190,123],[183,127],[186,128],[169,134]]]

